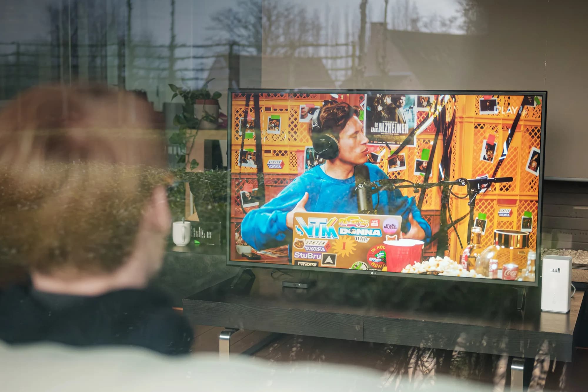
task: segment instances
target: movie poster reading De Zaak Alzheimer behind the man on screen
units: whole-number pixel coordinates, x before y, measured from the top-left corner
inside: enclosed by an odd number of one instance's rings
[[[372,143],[399,145],[415,129],[416,95],[368,94],[365,132]],[[409,146],[415,145],[410,137]]]

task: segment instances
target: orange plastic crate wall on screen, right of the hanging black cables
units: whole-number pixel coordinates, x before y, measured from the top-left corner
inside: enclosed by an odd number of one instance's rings
[[[499,113],[480,115],[479,99],[466,97],[460,102],[457,111],[456,132],[452,141],[453,157],[451,162],[451,178],[475,178],[482,174],[491,176],[495,170],[503,146],[515,119],[516,112],[522,102],[522,97],[510,95],[494,96],[497,98]],[[508,109],[508,108],[512,109]],[[494,162],[480,161],[482,143],[487,135],[495,135],[496,151]],[[476,200],[475,217],[481,212],[487,215],[485,235],[482,236],[482,246],[488,247],[493,243],[493,232],[496,229],[507,228],[520,230],[520,222],[524,211],[533,215],[533,230],[529,237],[529,247],[537,245],[537,198],[539,191],[539,177],[526,171],[527,160],[532,147],[540,147],[541,135],[541,107],[525,107],[519,124],[513,136],[506,158],[496,177],[513,177],[512,182],[492,185]],[[457,152],[457,154],[455,154]],[[455,187],[453,191],[458,195],[466,195],[465,187]],[[500,208],[511,208],[511,217],[499,217]],[[465,215],[469,211],[467,200],[450,198],[450,209],[453,219]],[[463,245],[467,244],[467,218],[457,225]],[[455,231],[449,232],[451,257],[457,260],[462,249],[457,241]]]

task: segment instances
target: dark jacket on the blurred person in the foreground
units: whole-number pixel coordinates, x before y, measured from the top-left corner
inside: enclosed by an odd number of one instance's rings
[[[13,287],[0,294],[0,340],[72,346],[125,345],[188,353],[193,331],[152,288],[81,297]]]

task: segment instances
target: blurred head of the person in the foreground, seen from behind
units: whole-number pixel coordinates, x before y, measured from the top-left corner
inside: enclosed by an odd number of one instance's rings
[[[149,102],[91,85],[29,89],[0,112],[0,256],[42,291],[144,287],[171,214]]]

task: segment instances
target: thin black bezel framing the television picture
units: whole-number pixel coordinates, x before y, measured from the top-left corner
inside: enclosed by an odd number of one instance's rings
[[[227,124],[227,151],[232,151],[232,96],[233,94],[407,94],[407,95],[536,95],[542,97],[542,113],[541,113],[541,140],[540,140],[540,158],[539,158],[539,194],[537,200],[537,240],[536,240],[536,259],[535,259],[535,281],[513,281],[513,280],[500,280],[500,279],[482,279],[482,278],[470,278],[470,277],[452,277],[442,275],[420,275],[420,274],[407,274],[407,273],[393,273],[393,272],[382,272],[382,271],[364,271],[364,270],[348,270],[346,268],[317,268],[317,267],[301,267],[293,264],[275,264],[275,263],[256,263],[251,261],[236,261],[230,259],[230,247],[231,247],[231,232],[230,228],[230,214],[231,208],[233,207],[232,197],[230,192],[231,188],[231,170],[232,157],[229,154],[229,161],[227,164],[228,171],[228,182],[227,182],[227,228],[226,240],[227,240],[227,253],[226,265],[231,267],[244,267],[244,268],[273,268],[276,270],[298,270],[298,271],[314,271],[320,273],[348,273],[348,274],[360,274],[360,275],[372,275],[378,277],[406,277],[406,278],[420,278],[420,279],[433,279],[437,281],[465,281],[465,282],[476,282],[483,284],[503,284],[516,287],[538,287],[540,281],[541,271],[541,224],[542,224],[542,212],[543,212],[543,180],[544,180],[544,155],[545,155],[545,124],[547,119],[547,91],[526,91],[526,90],[392,90],[392,89],[279,89],[279,88],[229,88],[228,99],[227,99],[227,113],[229,115],[229,121]]]

